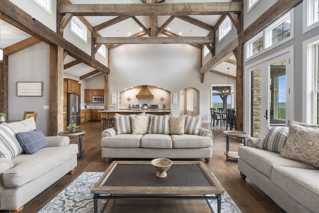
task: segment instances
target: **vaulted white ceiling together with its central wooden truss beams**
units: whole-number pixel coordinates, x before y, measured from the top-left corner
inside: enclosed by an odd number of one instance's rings
[[[77,16],[95,35],[97,47],[101,44],[112,49],[126,43],[185,43],[201,48],[205,43],[213,43],[215,26],[225,15],[235,17],[241,5],[241,1],[236,0],[108,0],[107,4],[105,0],[64,0],[58,7],[59,28],[63,31],[72,16]],[[0,24],[1,48],[29,37],[10,24],[3,21]],[[83,63],[76,63],[71,56],[67,56],[64,63],[65,72],[82,78],[94,71]],[[235,76],[235,64],[235,57],[231,56],[230,60],[214,67],[214,71],[226,73],[227,67],[231,67],[229,74]]]

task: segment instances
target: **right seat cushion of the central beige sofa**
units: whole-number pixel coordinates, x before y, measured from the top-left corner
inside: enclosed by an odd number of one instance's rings
[[[203,148],[213,145],[212,139],[198,135],[171,135],[173,148]]]

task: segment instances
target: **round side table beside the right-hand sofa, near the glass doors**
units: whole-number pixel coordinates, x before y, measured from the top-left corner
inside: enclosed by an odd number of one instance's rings
[[[229,151],[229,139],[232,140],[239,140],[244,143],[244,146],[246,146],[246,140],[249,137],[249,133],[242,132],[242,131],[223,131],[224,137],[226,137],[226,152],[224,155],[226,156],[227,161],[229,158],[238,159],[238,152]]]

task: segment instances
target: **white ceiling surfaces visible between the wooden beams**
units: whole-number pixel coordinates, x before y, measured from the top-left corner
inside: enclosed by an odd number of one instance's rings
[[[105,0],[70,0],[73,4],[103,4]],[[189,3],[189,2],[230,2],[231,0],[166,0],[163,3]],[[141,0],[108,0],[107,3],[142,3]],[[204,23],[214,26],[221,15],[190,15],[190,17],[200,20]],[[105,21],[111,20],[116,16],[85,16],[87,21],[92,25],[96,26]],[[151,27],[151,21],[149,16],[137,16],[137,18],[143,23],[147,28]],[[169,16],[162,15],[158,16],[158,26],[160,27]],[[165,28],[165,30],[170,31],[174,34],[180,36],[207,36],[209,31],[198,27],[196,25],[190,24],[179,18],[174,18],[172,22]],[[128,18],[110,27],[102,29],[99,34],[102,37],[128,37],[130,35],[136,34],[143,31],[141,27],[132,19]],[[130,34],[129,34],[130,33]],[[162,36],[162,35],[160,35]],[[5,48],[14,43],[17,43],[23,39],[30,37],[29,34],[17,29],[16,27],[8,24],[7,22],[0,20],[0,48]],[[139,45],[139,44],[136,44]],[[185,44],[186,45],[186,44]],[[235,60],[235,57],[231,57]],[[71,56],[67,56],[64,64],[75,60]],[[219,72],[227,73],[227,67],[230,68],[229,74],[236,76],[236,66],[229,63],[221,63],[214,68],[214,70]],[[81,70],[81,71],[80,71]],[[82,76],[87,74],[94,69],[83,63],[75,65],[65,70],[65,72],[77,76]]]

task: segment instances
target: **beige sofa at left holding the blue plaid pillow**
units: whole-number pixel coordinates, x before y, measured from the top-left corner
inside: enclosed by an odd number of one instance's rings
[[[0,210],[15,210],[16,213],[23,211],[23,206],[27,202],[65,174],[73,173],[77,166],[78,147],[76,144],[69,144],[68,137],[45,137],[47,144],[44,148],[38,147],[35,150],[32,150],[32,147],[38,145],[35,142],[24,143],[26,152],[33,154],[26,154],[25,151],[19,154],[18,146],[10,148],[18,153],[12,158],[4,151],[6,149],[3,146],[8,146],[4,140],[12,142],[16,135],[24,142],[32,140],[31,135],[34,132],[33,135],[37,138],[34,141],[42,140],[43,137],[39,138],[41,133],[33,131],[34,129],[33,117],[21,122],[0,125]]]

